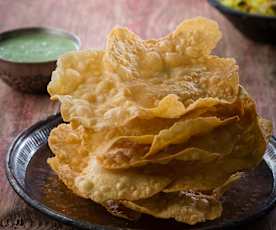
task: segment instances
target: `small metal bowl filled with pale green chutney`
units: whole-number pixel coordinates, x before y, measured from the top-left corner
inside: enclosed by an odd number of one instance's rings
[[[0,79],[24,93],[47,93],[59,56],[79,50],[79,38],[63,30],[29,27],[0,33]]]

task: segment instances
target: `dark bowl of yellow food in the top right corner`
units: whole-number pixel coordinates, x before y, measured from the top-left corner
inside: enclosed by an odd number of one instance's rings
[[[246,37],[276,44],[275,0],[208,0]]]

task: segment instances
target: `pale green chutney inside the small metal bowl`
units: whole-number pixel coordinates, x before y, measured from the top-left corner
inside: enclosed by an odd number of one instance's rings
[[[19,33],[0,40],[0,58],[14,62],[53,61],[77,49],[78,45],[70,38],[43,31]]]

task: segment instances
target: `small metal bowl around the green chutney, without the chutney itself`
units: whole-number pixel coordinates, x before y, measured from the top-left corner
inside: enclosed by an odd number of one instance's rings
[[[63,30],[44,27],[20,28],[0,34],[0,40],[20,34],[46,32],[71,39],[80,48],[80,39],[72,33]],[[56,59],[45,62],[15,62],[0,57],[0,78],[10,87],[25,93],[42,94],[47,92],[47,84],[52,71],[56,67]]]

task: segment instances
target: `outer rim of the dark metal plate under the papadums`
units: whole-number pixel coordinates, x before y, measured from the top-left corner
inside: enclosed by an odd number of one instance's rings
[[[5,160],[5,172],[6,172],[6,177],[8,179],[8,182],[10,183],[11,187],[13,188],[13,190],[15,191],[15,193],[30,207],[34,208],[35,210],[39,211],[40,213],[42,213],[45,216],[50,217],[51,219],[54,219],[60,223],[66,224],[66,225],[70,225],[70,226],[74,226],[74,227],[78,227],[81,229],[95,229],[95,230],[127,230],[127,229],[131,229],[131,230],[136,230],[136,229],[141,229],[141,228],[128,228],[128,227],[113,227],[113,226],[109,226],[109,225],[100,225],[100,224],[95,224],[95,223],[91,223],[91,222],[87,222],[87,221],[82,221],[82,220],[77,220],[77,219],[73,219],[70,217],[67,217],[55,210],[52,210],[51,208],[49,208],[48,206],[44,205],[43,203],[37,201],[36,199],[33,199],[25,190],[24,188],[20,185],[20,183],[17,181],[16,176],[13,174],[13,170],[12,170],[12,166],[11,166],[11,158],[13,155],[14,150],[16,149],[18,143],[20,142],[21,139],[24,139],[28,136],[28,134],[34,132],[35,130],[37,130],[38,128],[42,127],[43,125],[47,125],[47,123],[50,123],[52,121],[55,120],[60,120],[61,119],[61,115],[60,113],[56,113],[53,115],[48,116],[45,119],[42,119],[36,123],[34,123],[33,125],[31,125],[30,127],[27,127],[25,129],[23,129],[21,132],[19,132],[19,134],[13,139],[13,141],[11,142],[8,151],[6,153],[6,160]],[[275,136],[271,136],[271,139],[269,140],[269,143],[271,143],[273,146],[276,146],[276,137]],[[47,142],[45,143],[47,144]],[[272,158],[271,156],[269,156],[270,159]],[[276,155],[275,155],[276,158]],[[272,196],[273,193],[276,193],[276,178],[275,175],[271,169],[271,166],[269,165],[269,163],[267,162],[266,159],[264,159],[264,162],[266,163],[266,165],[269,167],[270,171],[272,172],[272,177],[273,177],[273,187],[272,187],[272,191],[269,195],[269,197]],[[199,228],[195,228],[194,230],[211,230],[211,229],[218,229],[218,228],[233,228],[233,227],[238,227],[247,223],[250,223],[262,216],[264,216],[266,213],[268,213],[269,211],[271,211],[271,209],[275,206],[276,204],[276,196],[272,197],[269,202],[264,205],[258,212],[253,213],[250,216],[247,216],[246,218],[240,218],[238,220],[235,221],[225,221],[223,223],[219,223],[216,224],[215,226],[202,226]],[[195,225],[196,226],[196,225]]]

